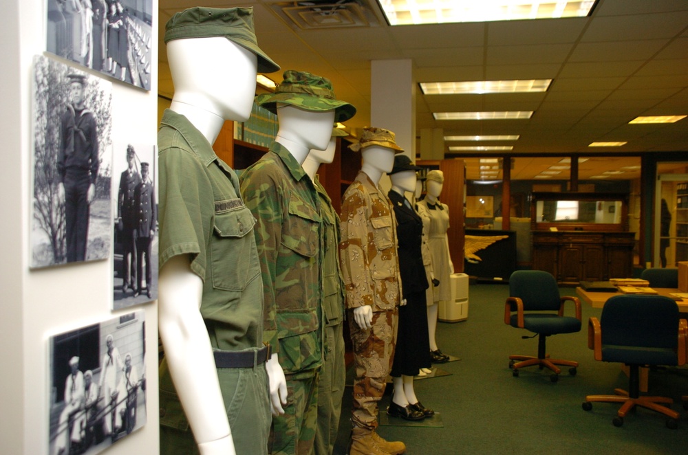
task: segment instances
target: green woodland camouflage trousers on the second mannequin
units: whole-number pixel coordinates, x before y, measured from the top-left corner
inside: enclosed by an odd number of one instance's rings
[[[272,417],[270,453],[272,455],[306,455],[313,453],[318,417],[318,379],[291,379],[287,375],[287,405],[284,414]],[[239,452],[237,452],[238,454]]]

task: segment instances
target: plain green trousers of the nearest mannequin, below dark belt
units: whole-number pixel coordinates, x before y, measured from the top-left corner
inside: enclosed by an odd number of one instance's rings
[[[217,378],[237,455],[267,454],[272,414],[265,364],[217,368]],[[199,453],[164,359],[160,365],[160,453]]]

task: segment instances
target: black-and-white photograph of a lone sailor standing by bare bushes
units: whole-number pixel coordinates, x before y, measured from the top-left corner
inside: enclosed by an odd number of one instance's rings
[[[31,267],[109,257],[112,84],[36,56]]]

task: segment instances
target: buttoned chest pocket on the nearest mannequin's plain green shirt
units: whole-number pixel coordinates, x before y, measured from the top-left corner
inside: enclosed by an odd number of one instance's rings
[[[243,203],[233,210],[215,212],[210,248],[213,287],[241,291],[260,274],[253,235],[255,223]]]

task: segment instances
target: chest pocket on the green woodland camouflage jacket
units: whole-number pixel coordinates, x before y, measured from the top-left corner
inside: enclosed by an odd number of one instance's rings
[[[282,227],[282,245],[301,256],[314,257],[319,246],[320,220],[312,206],[300,197],[291,195],[288,217]]]

